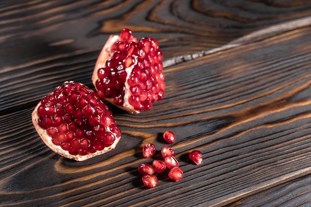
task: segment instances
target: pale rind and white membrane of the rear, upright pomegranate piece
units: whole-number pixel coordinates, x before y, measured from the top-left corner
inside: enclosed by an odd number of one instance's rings
[[[95,86],[95,88],[96,88],[96,80],[98,79],[97,70],[100,68],[103,68],[105,66],[106,61],[112,57],[113,52],[111,52],[110,48],[115,42],[119,40],[120,40],[119,35],[110,35],[107,42],[105,43],[105,45],[103,46],[103,48],[101,49],[99,53],[99,56],[96,60],[93,74],[92,74],[92,83]],[[137,62],[137,58],[135,61]],[[134,65],[126,69],[126,73],[127,73],[126,79],[129,79],[129,76],[132,73],[132,69],[134,68]],[[131,92],[129,90],[129,86],[127,85],[127,81],[125,82],[125,86],[126,87],[125,87],[124,102],[122,106],[118,106],[118,107],[130,113],[136,113],[136,114],[140,113],[140,111],[135,110],[134,107],[129,104],[128,98],[130,97]],[[105,100],[115,105],[113,102],[113,98],[106,98]]]

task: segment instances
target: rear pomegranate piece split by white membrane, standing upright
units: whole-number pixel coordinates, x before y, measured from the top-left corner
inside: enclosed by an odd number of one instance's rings
[[[92,75],[98,96],[132,113],[150,110],[164,96],[162,58],[154,38],[138,41],[126,28],[111,35]]]

